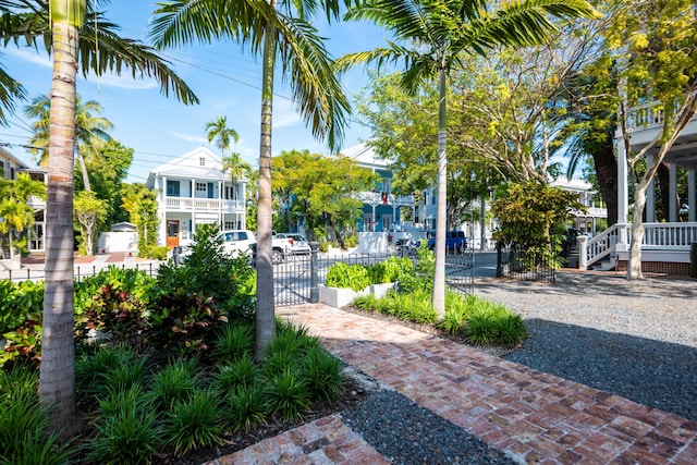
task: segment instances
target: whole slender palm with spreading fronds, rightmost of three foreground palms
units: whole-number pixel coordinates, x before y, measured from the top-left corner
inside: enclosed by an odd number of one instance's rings
[[[351,53],[340,63],[402,62],[402,85],[415,94],[425,82],[438,77],[438,205],[436,213],[436,269],[432,304],[445,315],[447,228],[447,89],[448,75],[461,53],[481,53],[494,46],[540,42],[554,28],[549,16],[592,17],[584,0],[521,0],[488,4],[486,0],[368,0],[351,8],[348,20],[369,20],[390,30],[396,41],[387,48]],[[402,45],[400,45],[402,44]]]

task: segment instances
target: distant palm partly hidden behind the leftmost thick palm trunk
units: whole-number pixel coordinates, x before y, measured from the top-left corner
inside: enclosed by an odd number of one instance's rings
[[[49,114],[51,101],[46,95],[35,97],[32,103],[24,107],[24,113],[28,118],[36,119],[32,129],[34,135],[29,139],[29,149],[33,154],[39,155],[40,167],[48,166],[48,139],[49,139]],[[108,131],[113,127],[111,121],[98,117],[103,111],[101,103],[97,100],[83,102],[80,96],[75,99],[75,155],[80,163],[85,191],[91,191],[85,155],[99,150],[105,143],[111,140]]]

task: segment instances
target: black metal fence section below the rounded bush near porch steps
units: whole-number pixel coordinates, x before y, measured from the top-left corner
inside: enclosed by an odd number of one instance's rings
[[[497,278],[555,282],[559,262],[549,252],[497,245]]]

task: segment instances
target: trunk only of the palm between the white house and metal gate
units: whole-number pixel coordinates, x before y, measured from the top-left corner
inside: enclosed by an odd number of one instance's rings
[[[261,143],[259,148],[259,199],[257,209],[257,315],[256,358],[264,357],[267,345],[276,335],[273,309],[273,266],[271,248],[271,126],[273,103],[273,69],[276,30],[267,26],[264,42],[264,76],[261,86]]]

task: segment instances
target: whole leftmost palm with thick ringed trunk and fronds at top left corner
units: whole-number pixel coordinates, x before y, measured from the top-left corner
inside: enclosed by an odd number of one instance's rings
[[[75,78],[89,71],[155,77],[164,93],[185,103],[198,99],[151,48],[120,37],[115,25],[95,10],[107,0],[3,0],[0,34],[15,44],[45,40],[53,58],[48,145],[46,278],[39,393],[50,407],[49,429],[69,436],[80,426],[75,405],[73,341],[73,171]],[[80,34],[80,32],[85,34]],[[98,44],[98,47],[97,47]],[[80,57],[80,60],[78,60]]]

